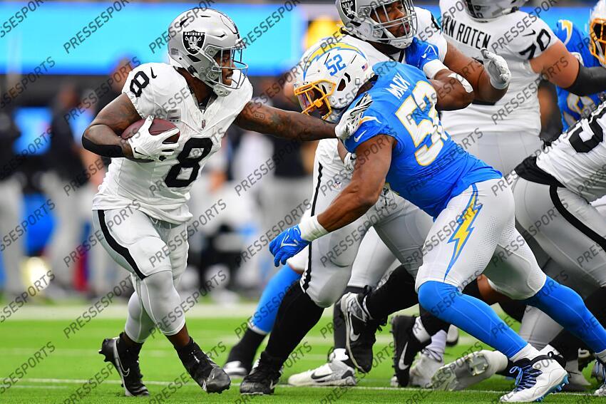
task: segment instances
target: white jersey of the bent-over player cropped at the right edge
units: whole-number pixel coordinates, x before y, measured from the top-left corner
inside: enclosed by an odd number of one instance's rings
[[[606,195],[606,103],[537,156],[541,170],[593,202]]]

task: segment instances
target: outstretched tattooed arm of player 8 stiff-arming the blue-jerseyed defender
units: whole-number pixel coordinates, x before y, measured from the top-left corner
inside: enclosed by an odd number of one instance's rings
[[[334,125],[302,113],[249,102],[235,120],[242,129],[292,140],[332,139]]]

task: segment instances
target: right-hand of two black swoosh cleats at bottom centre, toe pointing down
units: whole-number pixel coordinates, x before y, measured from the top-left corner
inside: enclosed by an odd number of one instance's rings
[[[391,318],[391,333],[394,334],[394,371],[391,385],[406,387],[410,380],[411,365],[417,353],[429,345],[431,340],[421,343],[413,334],[416,317],[394,316]]]

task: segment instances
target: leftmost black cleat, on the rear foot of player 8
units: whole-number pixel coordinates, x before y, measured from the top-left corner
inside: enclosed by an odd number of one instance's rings
[[[111,362],[122,379],[122,387],[127,397],[150,395],[143,384],[143,375],[139,369],[140,348],[126,348],[120,337],[106,338],[99,353],[105,356],[103,361]]]

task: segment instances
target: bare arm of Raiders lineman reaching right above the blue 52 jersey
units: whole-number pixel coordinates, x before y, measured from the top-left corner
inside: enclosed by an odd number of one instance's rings
[[[463,76],[473,87],[476,100],[495,103],[507,93],[508,87],[499,90],[491,84],[491,78],[482,66],[482,63],[465,56],[455,46],[448,42],[448,52],[444,64],[451,71]],[[438,105],[438,109],[439,105]]]

